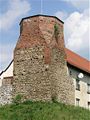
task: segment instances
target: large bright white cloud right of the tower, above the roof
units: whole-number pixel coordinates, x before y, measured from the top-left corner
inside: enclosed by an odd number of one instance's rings
[[[84,10],[82,13],[71,13],[64,22],[64,36],[66,47],[81,54],[82,56],[88,53],[88,56],[84,57],[89,58],[89,29],[89,9]],[[82,51],[84,51],[84,53],[82,53]]]

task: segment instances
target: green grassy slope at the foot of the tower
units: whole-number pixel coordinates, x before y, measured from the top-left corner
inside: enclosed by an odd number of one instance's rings
[[[26,101],[1,106],[0,120],[90,120],[90,111],[58,102]]]

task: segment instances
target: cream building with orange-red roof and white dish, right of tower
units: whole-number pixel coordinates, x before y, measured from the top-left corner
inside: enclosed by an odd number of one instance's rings
[[[75,86],[75,105],[90,109],[90,62],[66,50],[68,73]]]

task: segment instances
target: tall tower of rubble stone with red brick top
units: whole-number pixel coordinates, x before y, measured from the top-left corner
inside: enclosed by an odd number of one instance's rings
[[[74,104],[73,80],[67,75],[63,22],[54,16],[23,18],[14,50],[13,96],[33,101]]]

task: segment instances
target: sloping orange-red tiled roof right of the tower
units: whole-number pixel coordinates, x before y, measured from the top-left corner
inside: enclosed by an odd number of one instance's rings
[[[90,61],[65,48],[67,54],[67,62],[81,70],[90,73]]]

